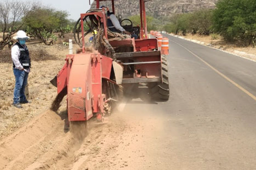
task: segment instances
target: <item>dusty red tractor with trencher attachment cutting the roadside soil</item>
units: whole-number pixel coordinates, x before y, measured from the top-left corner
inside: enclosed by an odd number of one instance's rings
[[[121,100],[120,93],[130,93],[138,86],[148,87],[145,95],[151,100],[169,98],[167,60],[157,39],[148,38],[144,0],[139,0],[140,26],[133,26],[130,20],[130,25],[123,26],[138,39],[111,32],[107,10],[100,8],[104,0],[95,1],[96,9],[81,14],[75,25],[75,41],[81,49],[66,56],[67,62],[56,76],[58,94],[67,94],[69,122],[92,117],[104,120],[111,105]],[[112,10],[115,13],[114,0]],[[86,36],[90,35],[94,37],[88,43]]]

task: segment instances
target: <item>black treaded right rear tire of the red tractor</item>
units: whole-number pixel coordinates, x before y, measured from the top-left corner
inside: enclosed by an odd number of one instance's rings
[[[162,55],[162,81],[158,83],[149,83],[149,93],[153,101],[168,101],[170,97],[168,65],[165,55]]]

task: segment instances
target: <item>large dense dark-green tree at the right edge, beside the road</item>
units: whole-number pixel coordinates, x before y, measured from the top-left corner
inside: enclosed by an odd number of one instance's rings
[[[213,28],[227,41],[256,43],[256,2],[221,0],[213,13]]]

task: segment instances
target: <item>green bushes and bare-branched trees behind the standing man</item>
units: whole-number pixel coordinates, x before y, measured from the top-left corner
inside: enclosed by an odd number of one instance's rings
[[[0,50],[12,46],[12,37],[18,30],[51,45],[73,31],[73,22],[68,19],[68,12],[39,1],[3,0],[0,2]]]

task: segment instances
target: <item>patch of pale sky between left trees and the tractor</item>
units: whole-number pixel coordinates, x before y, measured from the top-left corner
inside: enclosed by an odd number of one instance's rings
[[[27,0],[20,0],[27,1]],[[69,13],[69,18],[78,20],[81,13],[85,13],[90,9],[89,0],[38,0],[43,5],[50,5],[50,7],[57,10],[66,10]],[[91,0],[91,3],[94,0]]]

